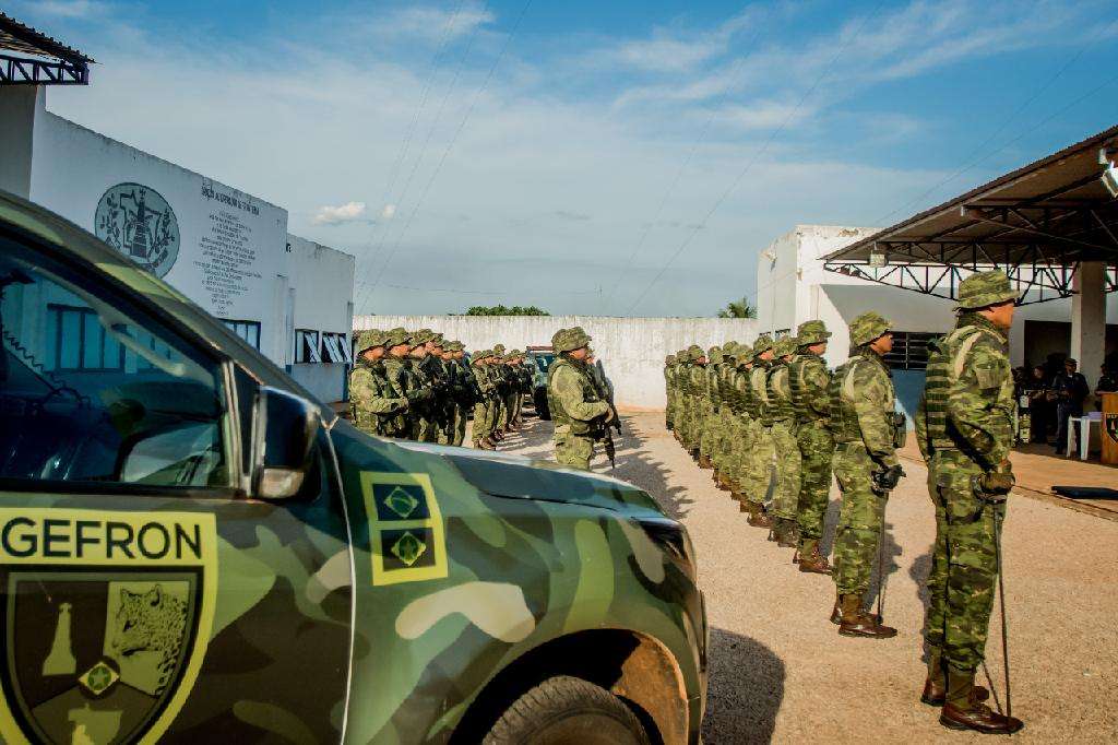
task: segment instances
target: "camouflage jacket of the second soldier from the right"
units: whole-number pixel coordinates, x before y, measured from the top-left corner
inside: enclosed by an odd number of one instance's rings
[[[897,398],[881,357],[868,349],[860,351],[835,370],[830,393],[835,442],[861,442],[877,463],[896,465],[892,417]]]

